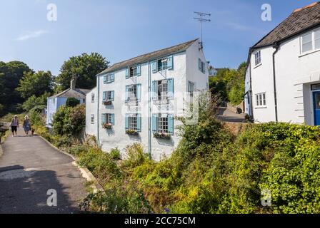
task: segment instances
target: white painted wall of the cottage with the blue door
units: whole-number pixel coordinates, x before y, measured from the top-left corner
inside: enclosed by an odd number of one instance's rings
[[[254,102],[256,122],[275,120],[272,72],[274,50],[272,47],[261,49],[262,65],[254,68],[251,64],[253,93],[267,92],[267,108],[257,109]],[[275,60],[279,121],[314,125],[311,84],[320,83],[320,51],[301,55],[300,36],[296,36],[281,43]],[[251,63],[254,63],[254,55],[251,55]]]

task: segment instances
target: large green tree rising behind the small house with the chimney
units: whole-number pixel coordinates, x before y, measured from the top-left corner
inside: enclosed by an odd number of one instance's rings
[[[73,56],[61,66],[60,74],[56,77],[56,92],[66,90],[72,78],[76,78],[77,88],[91,89],[96,86],[96,74],[108,68],[109,61],[99,53]]]

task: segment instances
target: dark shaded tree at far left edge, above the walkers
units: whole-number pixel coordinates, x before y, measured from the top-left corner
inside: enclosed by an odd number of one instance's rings
[[[24,98],[21,98],[16,90],[24,72],[32,72],[26,63],[20,61],[0,62],[0,103],[4,106],[4,113],[18,111],[17,104],[24,101]]]

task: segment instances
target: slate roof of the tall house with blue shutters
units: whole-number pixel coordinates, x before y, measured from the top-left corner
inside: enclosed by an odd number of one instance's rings
[[[176,46],[171,46],[169,48],[164,48],[161,49],[159,51],[154,51],[151,53],[146,53],[144,55],[141,56],[137,56],[135,58],[131,58],[129,60],[126,61],[122,61],[119,63],[115,63],[113,66],[107,68],[106,70],[102,71],[101,73],[99,73],[99,75],[104,74],[104,73],[111,73],[114,71],[119,71],[123,68],[126,68],[128,66],[133,66],[135,64],[138,63],[146,63],[147,61],[152,61],[155,60],[156,58],[160,58],[163,56],[168,56],[172,53],[179,53],[181,51],[186,51],[186,49],[188,49],[194,42],[198,41],[198,38],[192,40],[192,41],[188,41],[186,43],[181,43],[179,45]]]

